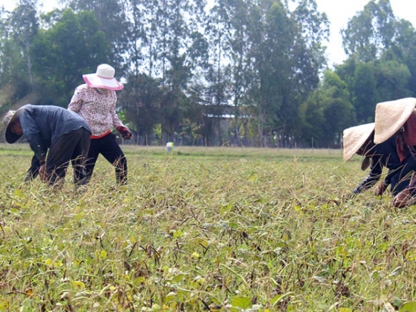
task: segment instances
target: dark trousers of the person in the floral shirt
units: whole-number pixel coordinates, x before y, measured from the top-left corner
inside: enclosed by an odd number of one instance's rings
[[[125,184],[127,182],[127,159],[125,159],[123,150],[116,141],[116,136],[112,133],[100,139],[91,140],[85,166],[88,180],[91,179],[100,154],[115,167],[117,183]]]

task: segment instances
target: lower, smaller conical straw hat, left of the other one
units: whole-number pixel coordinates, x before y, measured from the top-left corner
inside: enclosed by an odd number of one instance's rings
[[[343,132],[344,160],[347,162],[363,146],[374,131],[374,123],[347,128]]]

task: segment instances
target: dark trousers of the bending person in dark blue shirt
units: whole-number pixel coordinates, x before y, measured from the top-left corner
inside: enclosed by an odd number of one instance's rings
[[[85,157],[89,150],[90,137],[91,132],[85,128],[79,128],[62,135],[49,148],[46,173],[50,185],[63,182],[69,162],[73,168],[73,182],[76,185],[87,184]]]

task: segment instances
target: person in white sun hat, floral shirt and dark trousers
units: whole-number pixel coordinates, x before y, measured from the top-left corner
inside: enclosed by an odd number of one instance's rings
[[[76,87],[68,110],[76,112],[87,121],[92,130],[91,145],[87,157],[87,177],[91,178],[98,155],[101,154],[115,167],[116,182],[127,182],[127,159],[112,128],[123,139],[131,139],[132,132],[123,125],[116,114],[116,91],[123,85],[114,78],[115,70],[108,64],[98,65],[96,73],[83,75],[85,84]]]

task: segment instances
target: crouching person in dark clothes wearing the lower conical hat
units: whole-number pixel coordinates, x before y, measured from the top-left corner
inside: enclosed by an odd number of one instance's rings
[[[376,196],[381,196],[390,185],[393,196],[405,189],[411,175],[416,171],[416,159],[407,153],[401,159],[397,153],[396,137],[391,137],[381,144],[374,144],[374,123],[366,123],[347,128],[343,132],[343,156],[348,161],[354,154],[364,156],[361,169],[370,166],[370,173],[352,193],[358,194],[370,189],[380,180],[383,168],[388,168],[384,180],[376,188]]]

